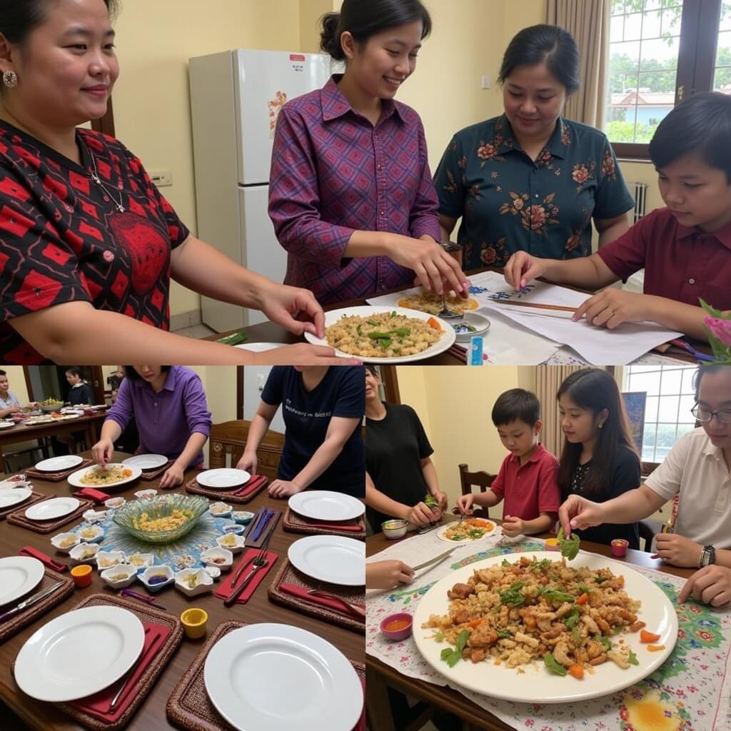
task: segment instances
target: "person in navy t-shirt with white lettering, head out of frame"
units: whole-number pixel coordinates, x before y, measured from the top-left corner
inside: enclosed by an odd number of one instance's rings
[[[286,431],[277,479],[269,485],[270,496],[286,498],[314,488],[363,499],[363,366],[272,368],[238,469],[257,471],[257,447],[279,406]]]

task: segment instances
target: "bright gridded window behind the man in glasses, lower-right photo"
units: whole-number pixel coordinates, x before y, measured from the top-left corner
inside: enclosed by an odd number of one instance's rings
[[[684,433],[695,428],[693,376],[697,366],[626,366],[622,390],[644,392],[641,459],[658,464]]]

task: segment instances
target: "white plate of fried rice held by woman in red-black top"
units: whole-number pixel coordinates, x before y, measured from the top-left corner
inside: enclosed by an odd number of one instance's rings
[[[325,312],[325,338],[305,337],[368,363],[412,363],[447,350],[455,331],[426,312],[364,305]]]

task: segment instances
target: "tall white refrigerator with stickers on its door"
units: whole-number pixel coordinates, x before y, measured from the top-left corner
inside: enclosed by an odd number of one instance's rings
[[[273,281],[287,271],[267,212],[276,119],[285,102],[325,86],[330,63],[323,54],[247,49],[190,59],[198,237]],[[219,333],[266,319],[201,299],[203,322]]]

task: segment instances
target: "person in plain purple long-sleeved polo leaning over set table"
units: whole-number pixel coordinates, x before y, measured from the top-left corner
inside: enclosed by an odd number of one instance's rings
[[[137,451],[175,460],[160,487],[180,485],[189,466],[202,464],[202,447],[211,432],[211,412],[200,378],[184,366],[124,366],[124,374],[102,437],[91,450],[94,461],[101,466],[111,461],[114,442],[134,418],[140,431]]]

